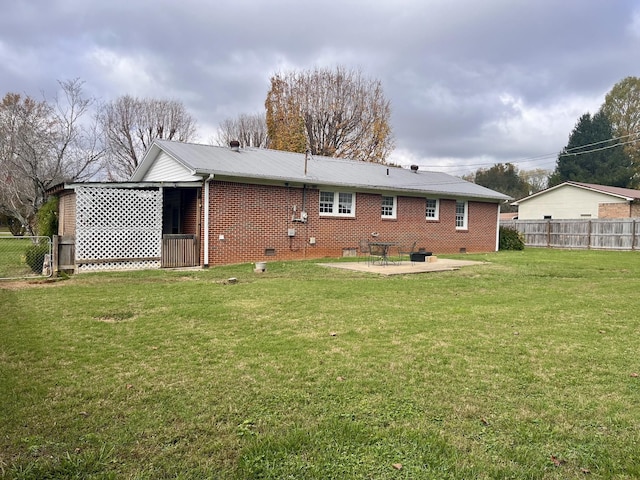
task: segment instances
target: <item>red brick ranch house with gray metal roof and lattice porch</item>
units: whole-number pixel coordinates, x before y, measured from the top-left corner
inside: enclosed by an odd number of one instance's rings
[[[497,250],[501,193],[444,173],[156,140],[129,182],[59,185],[75,271],[355,255],[361,240]]]

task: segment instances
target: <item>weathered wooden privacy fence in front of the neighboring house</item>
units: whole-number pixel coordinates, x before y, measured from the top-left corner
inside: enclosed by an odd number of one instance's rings
[[[530,247],[640,249],[640,219],[508,220],[502,227],[518,230]]]

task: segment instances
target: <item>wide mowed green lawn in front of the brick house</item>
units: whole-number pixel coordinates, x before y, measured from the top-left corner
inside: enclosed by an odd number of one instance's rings
[[[0,476],[639,478],[640,254],[464,258],[0,284]]]

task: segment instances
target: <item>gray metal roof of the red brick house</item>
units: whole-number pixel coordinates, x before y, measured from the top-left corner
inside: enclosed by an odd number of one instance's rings
[[[232,149],[212,145],[155,140],[130,181],[143,181],[164,151],[193,175],[230,177],[246,181],[277,181],[362,190],[438,194],[491,201],[511,197],[446,173],[413,171],[375,163],[262,148]],[[170,181],[171,179],[167,179]]]

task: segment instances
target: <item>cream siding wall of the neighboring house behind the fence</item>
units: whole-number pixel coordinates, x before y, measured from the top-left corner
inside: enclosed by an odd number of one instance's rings
[[[519,220],[598,218],[601,203],[626,203],[604,193],[593,192],[572,185],[565,185],[541,193],[518,205]]]

